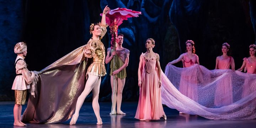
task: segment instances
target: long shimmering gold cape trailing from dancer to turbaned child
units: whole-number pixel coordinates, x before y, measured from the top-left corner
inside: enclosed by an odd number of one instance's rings
[[[59,123],[75,111],[86,83],[86,62],[81,46],[40,71],[36,98],[29,96],[22,122]]]

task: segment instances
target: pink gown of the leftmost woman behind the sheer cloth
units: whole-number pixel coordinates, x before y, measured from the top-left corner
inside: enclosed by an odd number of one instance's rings
[[[187,54],[184,55],[182,62],[183,62],[183,68],[188,68],[190,66],[193,66],[198,62],[199,58],[195,54],[192,59],[190,59]],[[190,83],[190,84],[188,84]],[[191,100],[198,101],[198,93],[197,93],[197,76],[191,75],[191,73],[187,73],[185,71],[182,71],[181,73],[181,79],[180,79],[180,87],[179,91],[190,98]]]

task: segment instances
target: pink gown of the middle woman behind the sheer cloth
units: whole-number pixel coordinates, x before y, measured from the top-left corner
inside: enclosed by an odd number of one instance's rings
[[[232,57],[218,58],[218,69],[229,69],[230,66],[235,68],[235,62]],[[233,103],[232,77],[231,75],[225,75],[224,77],[225,79],[222,79],[216,85],[214,105],[217,107]]]

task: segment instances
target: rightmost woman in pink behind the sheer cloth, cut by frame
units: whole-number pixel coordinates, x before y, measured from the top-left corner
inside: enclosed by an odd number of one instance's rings
[[[244,62],[241,68],[238,69],[238,71],[242,71],[244,69],[245,72],[247,71],[246,73],[256,74],[256,57],[255,57],[256,45],[252,44],[249,46],[249,48],[250,48],[249,50],[250,57],[244,58]],[[253,89],[253,87],[250,86],[252,83],[249,83],[249,82],[250,80],[245,80],[244,82],[242,97],[248,96],[253,90],[255,90]]]

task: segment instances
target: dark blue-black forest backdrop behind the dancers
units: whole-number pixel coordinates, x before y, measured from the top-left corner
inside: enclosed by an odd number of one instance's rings
[[[153,50],[160,55],[162,70],[185,52],[188,39],[196,43],[200,64],[208,69],[215,68],[222,43],[231,45],[236,69],[248,57],[249,45],[255,43],[254,0],[0,0],[0,101],[14,100],[13,48],[17,42],[28,45],[28,69],[42,70],[87,43],[90,23],[101,20],[106,5],[142,12],[119,26],[123,47],[130,50],[123,101],[138,100],[139,56],[146,51],[147,38],[156,41]],[[109,34],[102,39],[106,49],[109,39]],[[109,74],[102,78],[99,100],[111,101]],[[91,95],[86,101],[91,101]]]

